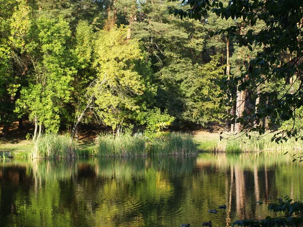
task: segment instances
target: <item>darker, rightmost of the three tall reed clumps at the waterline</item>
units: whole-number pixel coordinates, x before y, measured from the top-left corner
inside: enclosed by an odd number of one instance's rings
[[[196,144],[190,134],[170,133],[148,144],[150,155],[193,155],[197,153]]]

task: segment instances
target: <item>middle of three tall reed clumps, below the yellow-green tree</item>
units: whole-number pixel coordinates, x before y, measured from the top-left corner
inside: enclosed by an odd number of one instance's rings
[[[102,134],[96,138],[95,143],[98,156],[146,155],[145,140],[142,136]]]

